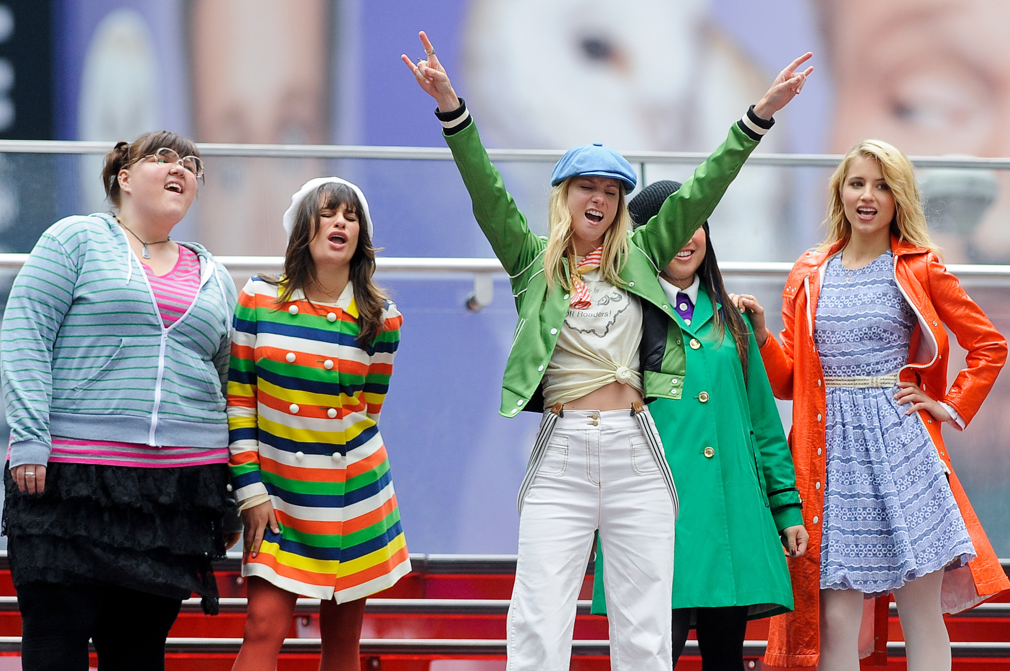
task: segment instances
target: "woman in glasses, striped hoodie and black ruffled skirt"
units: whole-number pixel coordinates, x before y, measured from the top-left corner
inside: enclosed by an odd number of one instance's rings
[[[217,609],[235,288],[170,238],[198,153],[168,131],[116,144],[116,213],[49,227],[10,293],[4,526],[26,671],[85,671],[89,639],[103,669],[164,669],[182,599]]]

